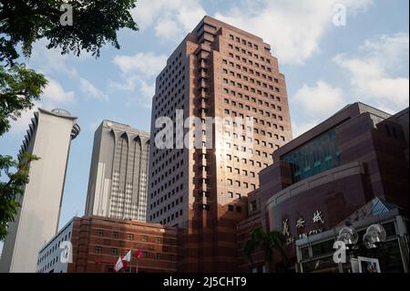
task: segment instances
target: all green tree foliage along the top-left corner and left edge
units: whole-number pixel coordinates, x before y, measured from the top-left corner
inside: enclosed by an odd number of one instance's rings
[[[47,48],[59,48],[61,54],[77,57],[87,51],[99,57],[107,44],[119,48],[117,32],[121,28],[138,30],[131,16],[137,0],[0,0],[0,136],[40,99],[47,81],[45,76],[17,61],[31,57],[33,44],[46,39]],[[69,4],[72,26],[60,22]],[[22,56],[20,56],[22,55]],[[18,198],[28,182],[30,162],[38,158],[24,154],[13,160],[0,155],[0,240],[7,223],[14,220]],[[8,182],[3,182],[7,180]]]

